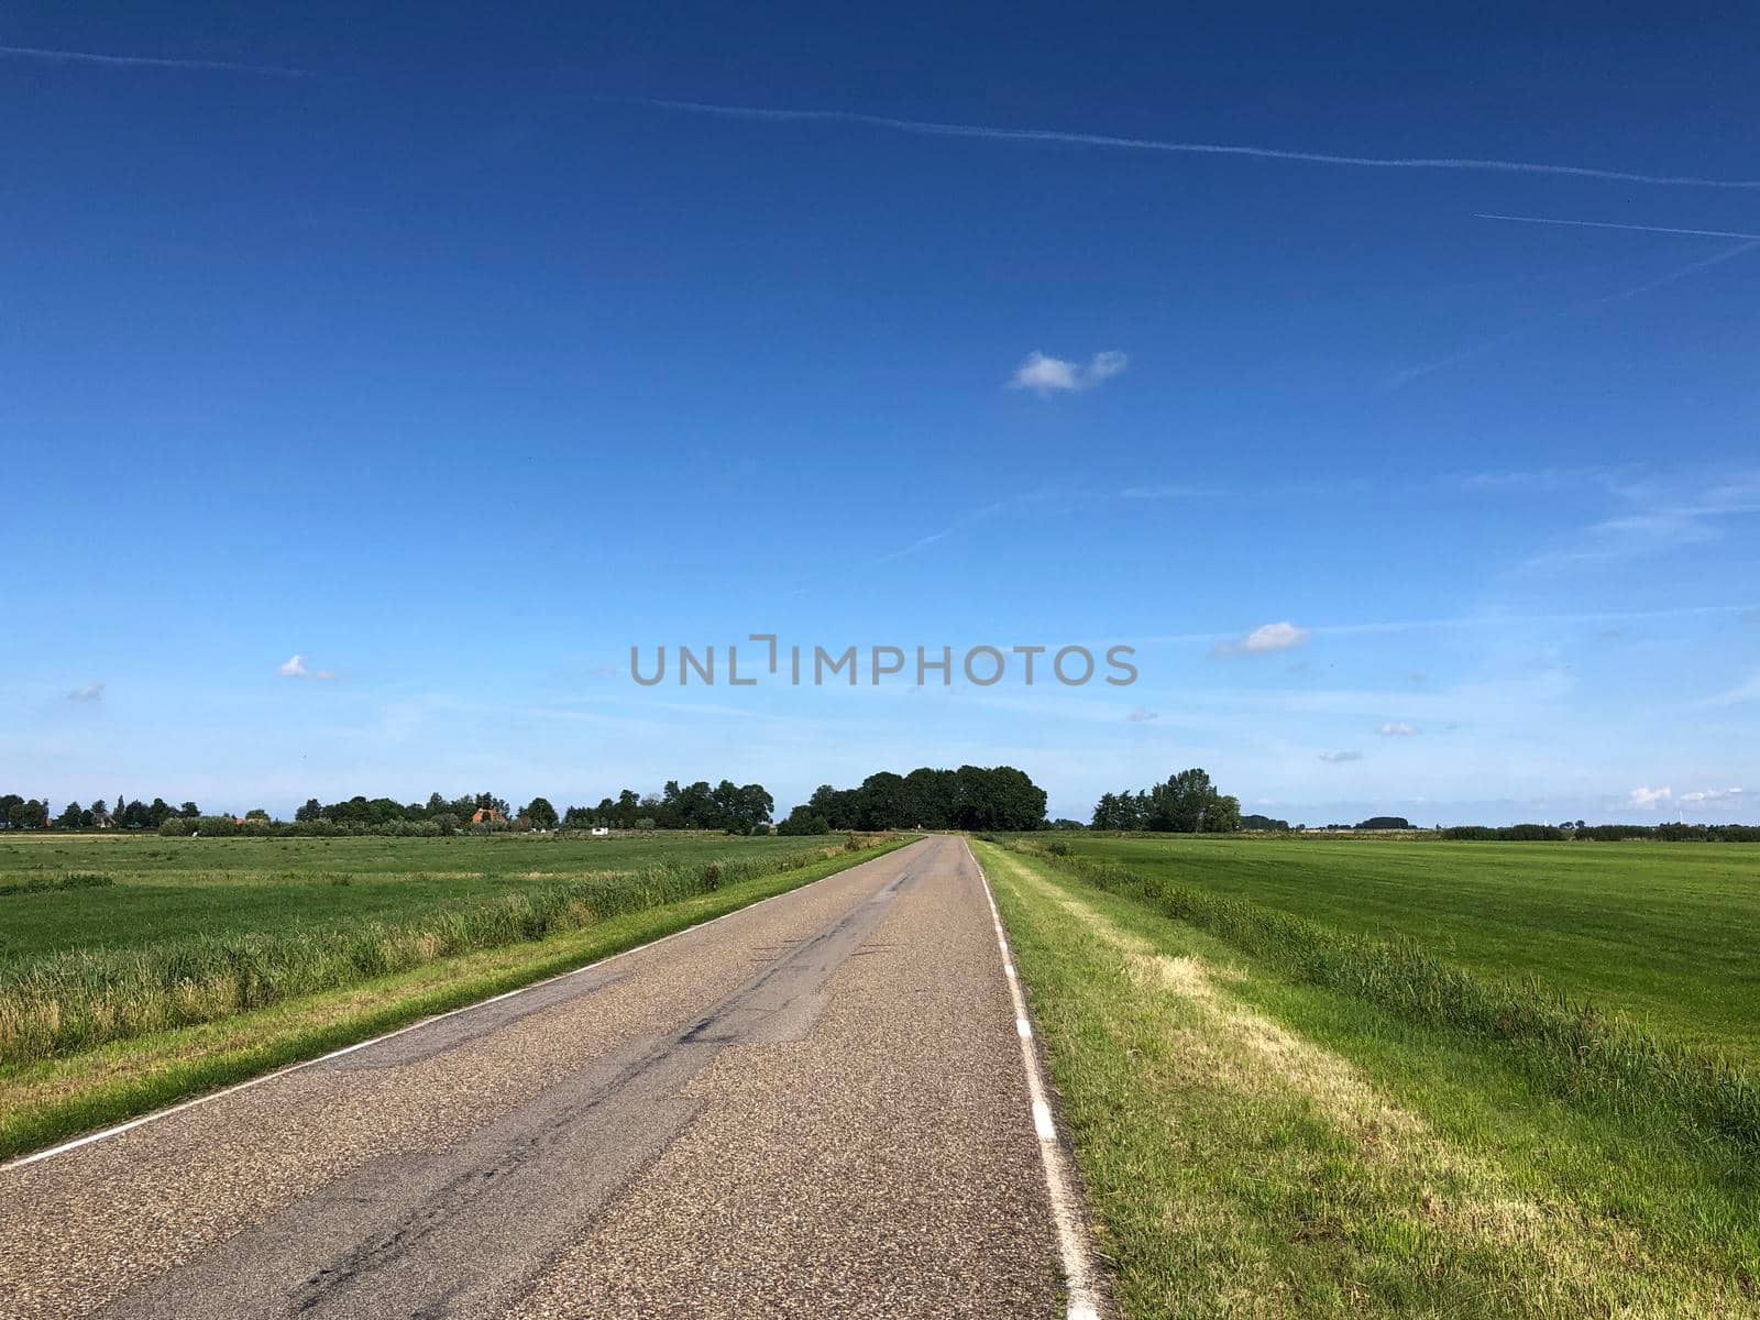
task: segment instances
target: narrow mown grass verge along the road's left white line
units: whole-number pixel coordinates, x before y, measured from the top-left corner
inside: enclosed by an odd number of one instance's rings
[[[422,963],[220,1021],[0,1067],[0,1160],[561,975],[873,861],[908,840],[718,884],[549,938]]]

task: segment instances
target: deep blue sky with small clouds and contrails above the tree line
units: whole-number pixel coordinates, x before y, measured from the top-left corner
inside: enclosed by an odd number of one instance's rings
[[[1760,19],[1139,11],[9,5],[4,787],[1760,817]]]

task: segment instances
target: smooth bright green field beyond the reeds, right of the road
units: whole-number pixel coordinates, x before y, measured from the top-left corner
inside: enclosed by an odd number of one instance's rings
[[[1760,1063],[1760,847],[1167,836],[1070,848],[1339,931],[1408,936]]]

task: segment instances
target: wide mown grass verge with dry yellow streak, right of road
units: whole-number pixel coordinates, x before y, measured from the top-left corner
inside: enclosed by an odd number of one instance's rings
[[[1755,1181],[1413,1021],[975,845],[1128,1316],[1753,1316]]]

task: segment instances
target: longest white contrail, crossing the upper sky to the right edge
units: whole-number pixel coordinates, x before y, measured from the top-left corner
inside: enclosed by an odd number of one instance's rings
[[[1126,151],[1176,151],[1183,155],[1255,157],[1260,160],[1304,160],[1318,165],[1360,165],[1368,169],[1480,169],[1512,174],[1572,174],[1589,180],[1616,180],[1619,183],[1654,183],[1690,188],[1760,188],[1760,180],[1707,180],[1691,174],[1633,174],[1619,169],[1591,169],[1586,165],[1545,165],[1528,160],[1475,160],[1456,157],[1345,157],[1324,151],[1287,151],[1271,146],[1228,146],[1220,143],[1163,143],[1153,137],[1112,137],[1107,134],[1077,134],[1056,128],[989,128],[972,123],[933,123],[924,120],[894,120],[884,114],[859,111],[785,111],[757,106],[709,106],[699,100],[664,100],[658,97],[604,97],[625,104],[653,106],[656,109],[686,111],[692,114],[720,114],[737,120],[771,121],[831,121],[866,123],[875,128],[894,128],[931,137],[984,137],[1005,143],[1065,143],[1072,146],[1111,146]]]

